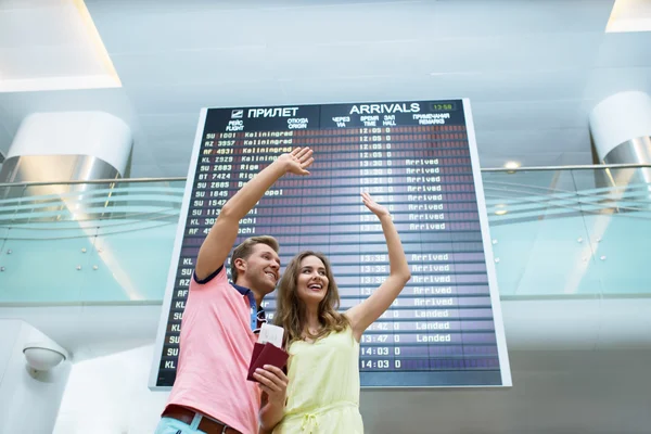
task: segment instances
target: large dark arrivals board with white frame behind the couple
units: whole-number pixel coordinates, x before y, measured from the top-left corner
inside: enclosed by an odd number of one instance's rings
[[[345,310],[388,275],[368,191],[391,210],[411,281],[360,342],[366,387],[511,385],[468,100],[203,110],[151,387],[174,384],[201,243],[221,206],[280,154],[310,146],[311,175],[286,175],[240,222],[237,243],[270,234],[281,261],[329,256]],[[273,318],[275,293],[264,302]]]

